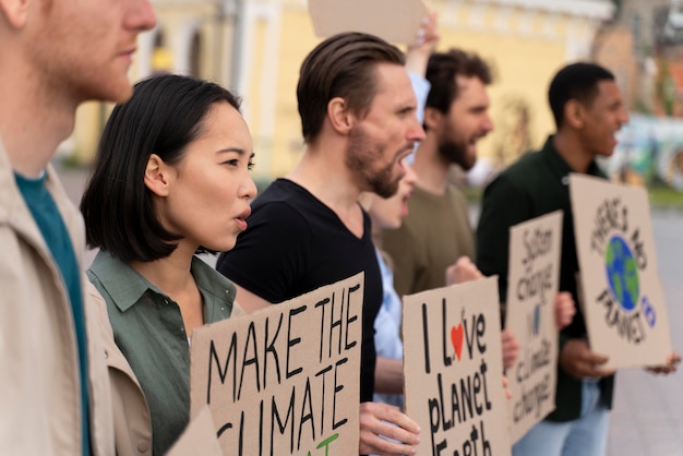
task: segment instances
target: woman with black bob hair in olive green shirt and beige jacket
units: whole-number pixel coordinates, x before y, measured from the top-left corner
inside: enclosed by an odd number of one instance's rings
[[[230,250],[247,228],[252,146],[237,97],[179,75],[137,83],[105,127],[81,211],[120,455],[169,449],[189,422],[192,331],[238,310],[195,253]]]

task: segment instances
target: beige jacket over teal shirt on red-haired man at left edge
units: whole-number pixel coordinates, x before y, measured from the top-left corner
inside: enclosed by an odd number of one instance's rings
[[[48,167],[47,187],[81,264],[83,220]],[[82,284],[88,283],[82,275]],[[91,443],[113,454],[105,351],[83,292],[88,343]],[[68,291],[22,197],[0,142],[0,452],[80,456],[79,353]]]

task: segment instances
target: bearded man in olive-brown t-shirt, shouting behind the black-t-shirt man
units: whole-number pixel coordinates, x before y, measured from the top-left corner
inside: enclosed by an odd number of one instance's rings
[[[489,65],[477,55],[452,49],[430,57],[424,107],[427,137],[415,153],[417,173],[408,217],[384,232],[398,296],[443,287],[460,256],[475,259],[475,235],[463,193],[450,181],[453,164],[464,171],[477,160],[477,142],[493,130],[487,85]]]

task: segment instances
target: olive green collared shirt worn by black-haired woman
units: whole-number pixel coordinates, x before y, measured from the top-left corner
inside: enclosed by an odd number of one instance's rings
[[[202,293],[204,323],[228,319],[232,283],[197,257],[191,273]],[[116,344],[145,393],[154,455],[166,454],[190,420],[190,347],[180,308],[106,252],[97,253],[87,276],[107,302]]]

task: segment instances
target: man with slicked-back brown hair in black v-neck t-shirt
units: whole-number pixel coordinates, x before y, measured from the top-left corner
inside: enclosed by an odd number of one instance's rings
[[[363,271],[359,453],[415,454],[418,425],[370,401],[382,277],[358,204],[363,191],[393,195],[404,159],[424,137],[403,53],[370,35],[333,36],[303,61],[297,97],[301,161],[254,201],[249,229],[217,268],[237,285],[237,301],[248,312]]]

